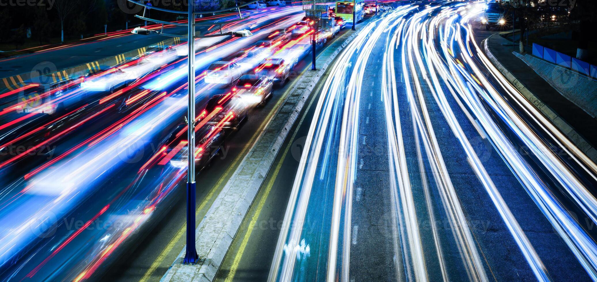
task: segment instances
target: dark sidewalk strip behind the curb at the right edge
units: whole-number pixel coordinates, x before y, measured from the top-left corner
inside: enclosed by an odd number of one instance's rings
[[[587,114],[583,109],[562,96],[556,89],[547,83],[546,80],[537,75],[537,73],[524,61],[516,57],[516,55],[513,54],[514,49],[512,48],[512,45],[503,46],[501,45],[503,43],[511,44],[511,41],[502,38],[498,34],[490,36],[490,38],[487,39],[489,51],[493,53],[499,63],[501,63],[504,68],[518,80],[518,82],[526,87],[528,91],[532,92],[540,102],[543,102],[543,104],[553,110],[564,123],[567,123],[572,131],[576,131],[580,137],[583,137],[584,140],[589,143],[588,145],[590,145],[590,147],[595,148],[595,145],[597,145],[597,120],[593,119],[593,117]],[[518,46],[516,46],[516,51],[518,52]],[[558,126],[564,134],[571,137],[570,134],[563,130],[563,128],[567,128],[566,125],[556,124],[556,126]],[[574,138],[571,138],[571,140],[574,141]],[[578,144],[578,142],[574,142],[579,148],[583,147],[581,144]]]

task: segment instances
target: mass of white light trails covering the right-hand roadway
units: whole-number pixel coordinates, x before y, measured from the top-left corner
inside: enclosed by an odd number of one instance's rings
[[[355,174],[360,169],[356,165],[358,147],[355,144],[358,141],[356,132],[359,122],[364,119],[359,116],[361,84],[371,47],[376,42],[386,44],[383,63],[376,67],[383,70],[381,102],[386,122],[384,127],[390,156],[387,164],[392,186],[387,197],[396,206],[392,210],[394,234],[391,237],[396,271],[404,272],[408,280],[426,281],[432,271],[429,266],[437,265],[438,276],[443,281],[451,281],[460,274],[454,274],[454,269],[450,269],[453,262],[448,263],[447,258],[454,260],[457,253],[464,266],[458,271],[466,273],[464,277],[469,281],[489,281],[489,275],[495,278],[493,271],[490,274],[487,269],[496,266],[491,265],[485,257],[484,252],[487,250],[484,251],[484,246],[479,243],[476,231],[470,226],[469,216],[466,215],[467,207],[463,206],[458,196],[462,191],[458,191],[459,187],[451,179],[448,169],[451,166],[448,162],[450,155],[442,151],[441,143],[444,140],[437,137],[434,128],[437,125],[433,119],[437,119],[439,114],[450,128],[454,140],[463,149],[470,170],[482,185],[482,191],[487,193],[495,207],[488,206],[487,212],[496,213],[501,218],[504,230],[512,236],[512,244],[519,249],[530,273],[538,281],[552,280],[549,268],[536,249],[536,245],[543,242],[535,240],[531,243],[527,237],[527,231],[519,224],[523,218],[516,218],[510,210],[512,199],[504,199],[500,193],[502,188],[494,183],[494,176],[479,157],[482,152],[473,148],[470,135],[465,134],[464,123],[470,122],[467,126],[474,128],[478,135],[491,143],[510,173],[528,193],[517,197],[528,197],[525,199],[536,204],[546,216],[546,222],[562,237],[562,246],[567,246],[589,277],[597,281],[595,240],[581,226],[584,222],[575,218],[574,211],[570,210],[577,206],[587,216],[586,219],[597,222],[597,200],[587,189],[597,180],[597,166],[516,91],[485,57],[475,42],[469,24],[481,11],[480,8],[482,5],[465,7],[457,3],[427,5],[413,10],[399,7],[362,26],[354,41],[338,56],[322,86],[309,128],[269,281],[301,280],[308,272],[324,270],[327,281],[351,279],[352,269],[349,269],[348,262],[353,255],[349,240],[352,187]],[[408,16],[403,18],[405,14]],[[380,31],[385,32],[386,38],[378,35]],[[399,49],[398,55],[395,49]],[[396,57],[401,61],[398,68],[394,65]],[[413,168],[407,166],[404,150],[408,145],[402,136],[404,129],[401,119],[405,117],[400,115],[400,100],[407,101],[405,105],[410,113],[408,122],[413,123],[417,169],[421,171],[422,180],[422,184],[417,185],[423,186],[422,198],[414,197],[411,187],[418,182],[411,179],[410,170]],[[433,112],[430,107],[438,107],[439,112]],[[459,120],[456,111],[465,120]],[[558,152],[552,150],[551,144],[565,151],[570,159],[559,156]],[[516,150],[519,145],[528,148],[532,157],[522,156]],[[547,178],[544,178],[543,173],[547,173]],[[432,179],[433,185],[428,185],[427,179]],[[439,197],[432,194],[434,188]],[[311,200],[313,197],[317,199],[318,193],[325,193],[322,191],[333,191],[334,194],[330,204],[333,210],[331,217],[318,219],[330,222],[329,234],[327,230],[318,231],[322,233],[319,235],[321,237],[329,235],[329,240],[314,246],[314,236],[304,230],[307,228],[306,215],[322,213],[319,211],[322,209],[321,203]],[[559,199],[560,196],[554,191],[562,192],[564,198]],[[568,199],[574,206],[566,206]],[[427,231],[418,228],[419,213],[435,222],[433,218],[438,204],[433,201],[441,203],[439,209],[443,208],[448,218],[453,234],[450,240],[455,243],[450,245],[456,246],[456,252],[444,243],[441,231],[435,226],[432,226],[429,235],[424,236],[421,233]],[[587,224],[590,225],[589,222]],[[327,226],[325,223],[321,225]],[[433,238],[437,262],[428,261],[424,255],[425,247],[422,245],[426,242],[422,241],[423,237]],[[321,266],[321,255],[316,257],[304,253],[305,246],[310,246],[310,252],[327,252],[327,265]],[[319,261],[313,262],[315,259]],[[395,279],[401,280],[401,277]]]

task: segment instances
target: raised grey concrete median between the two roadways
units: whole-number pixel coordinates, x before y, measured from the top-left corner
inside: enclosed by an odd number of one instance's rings
[[[358,31],[352,30],[344,33],[319,55],[316,64],[321,68],[308,71],[298,79],[199,224],[195,235],[199,262],[194,265],[183,264],[186,249],[183,248],[162,277],[162,282],[214,280],[242,220],[307,98],[328,66],[355,38],[356,33]]]

